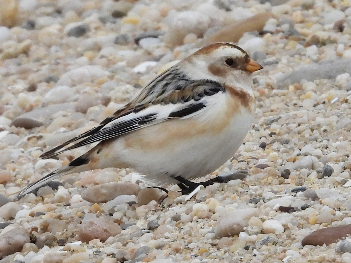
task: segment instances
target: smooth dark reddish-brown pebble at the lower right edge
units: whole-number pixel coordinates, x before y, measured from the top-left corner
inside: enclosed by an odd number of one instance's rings
[[[301,241],[302,245],[330,245],[344,237],[351,235],[351,224],[340,227],[326,227],[313,231]]]

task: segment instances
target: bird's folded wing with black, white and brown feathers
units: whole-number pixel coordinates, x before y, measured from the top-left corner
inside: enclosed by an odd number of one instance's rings
[[[206,106],[213,104],[211,103],[212,95],[225,92],[224,86],[218,82],[191,80],[186,79],[183,75],[178,78],[176,75],[174,78],[174,74],[167,74],[168,71],[158,76],[133,101],[107,117],[99,126],[45,152],[41,157],[52,158],[64,151],[115,138],[168,119],[193,116],[204,110]],[[173,82],[167,79],[171,76],[173,76]],[[160,81],[160,78],[163,79]],[[163,83],[163,86],[160,85],[160,82]],[[78,140],[81,141],[62,149]]]

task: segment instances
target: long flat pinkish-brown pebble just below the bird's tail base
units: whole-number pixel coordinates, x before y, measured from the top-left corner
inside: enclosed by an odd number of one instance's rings
[[[92,186],[81,193],[81,197],[91,203],[106,203],[120,195],[135,195],[140,192],[140,186],[133,183],[111,182]]]

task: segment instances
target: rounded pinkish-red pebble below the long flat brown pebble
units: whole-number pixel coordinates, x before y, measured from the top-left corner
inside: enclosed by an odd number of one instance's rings
[[[98,238],[105,242],[108,237],[115,236],[121,232],[118,224],[107,218],[88,217],[85,215],[82,223],[79,225],[78,239],[82,242]]]

